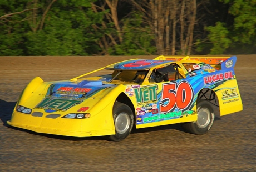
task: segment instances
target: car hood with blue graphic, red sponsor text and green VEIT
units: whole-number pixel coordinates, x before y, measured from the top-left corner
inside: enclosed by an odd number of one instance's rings
[[[47,91],[42,86],[38,92],[30,97],[29,102],[35,102],[31,103],[32,107],[44,109],[47,113],[52,113],[56,110],[66,111],[82,102],[87,102],[86,104],[90,105],[95,104],[108,93],[108,91],[105,91],[107,88],[116,87],[114,84],[103,84],[102,81],[98,80],[50,82],[45,84],[48,85],[46,87]],[[43,96],[40,102],[37,101],[38,95]]]

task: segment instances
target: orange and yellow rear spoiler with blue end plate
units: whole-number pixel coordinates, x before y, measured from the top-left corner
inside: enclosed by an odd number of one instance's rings
[[[235,62],[237,62],[236,56],[164,56],[160,55],[156,57],[154,60],[169,60],[169,61],[181,61],[181,60],[196,60],[200,62],[204,62],[206,64],[210,64],[212,66],[221,65],[221,69],[231,68],[235,66]],[[225,62],[225,63],[224,63]]]

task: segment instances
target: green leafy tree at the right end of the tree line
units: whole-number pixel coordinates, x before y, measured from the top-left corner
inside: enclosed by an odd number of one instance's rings
[[[213,44],[210,54],[225,52],[255,53],[256,46],[256,1],[255,0],[219,0],[229,4],[229,15],[233,22],[216,22],[206,27],[208,38]],[[202,44],[199,44],[200,50]],[[250,47],[250,48],[248,48]],[[239,49],[239,50],[238,50]],[[254,51],[253,51],[254,50]]]

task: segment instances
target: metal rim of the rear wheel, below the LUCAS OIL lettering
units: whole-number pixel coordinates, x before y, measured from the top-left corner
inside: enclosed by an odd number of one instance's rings
[[[210,110],[207,108],[201,108],[198,112],[198,120],[196,121],[196,124],[199,128],[205,128],[210,123],[210,119]]]

